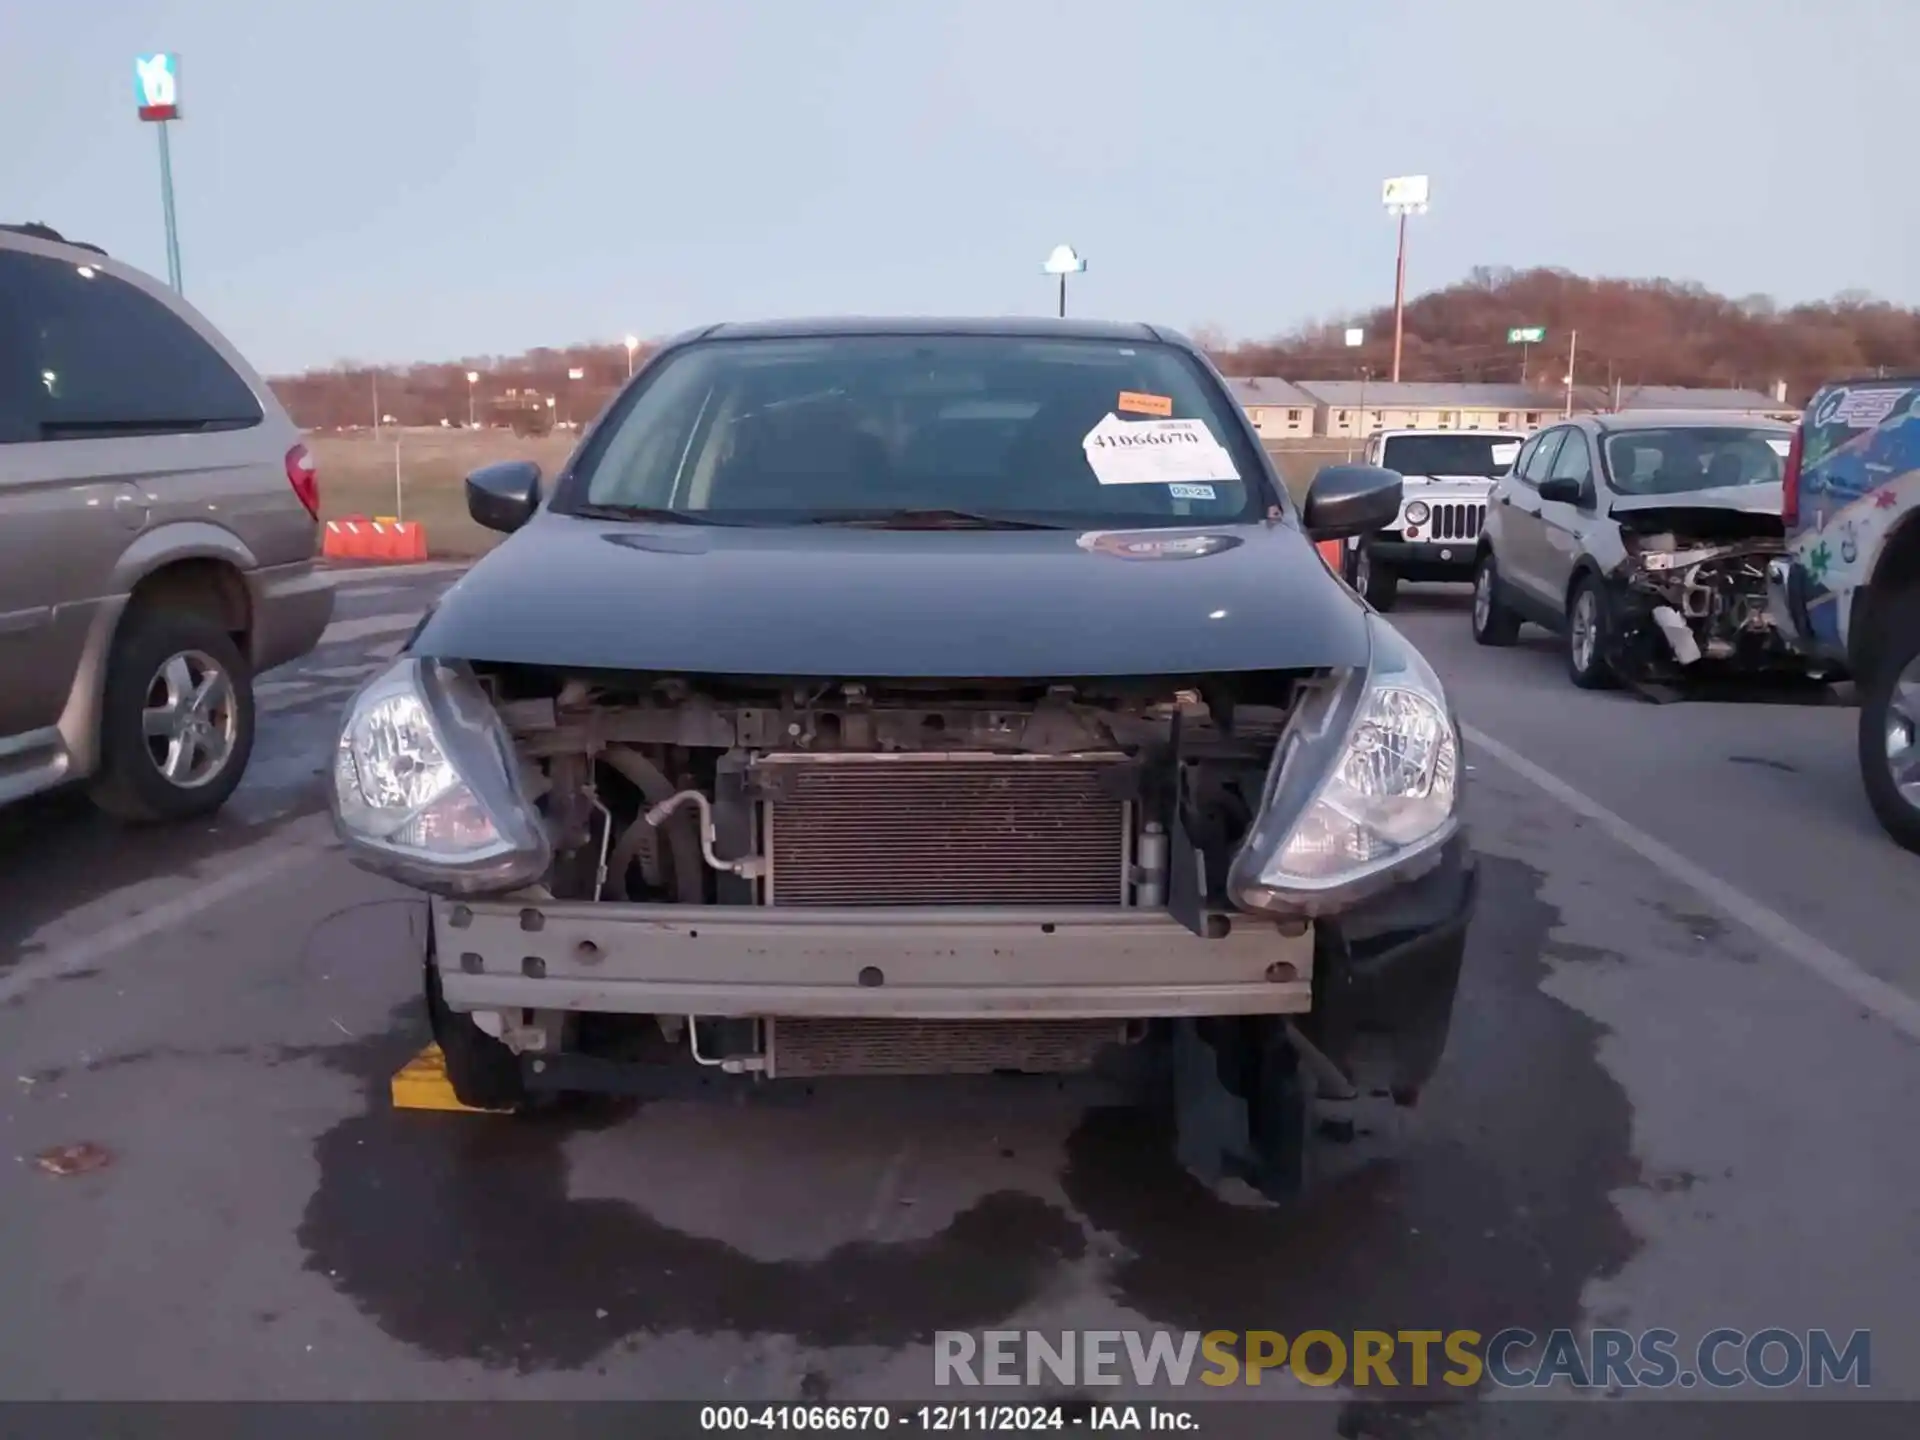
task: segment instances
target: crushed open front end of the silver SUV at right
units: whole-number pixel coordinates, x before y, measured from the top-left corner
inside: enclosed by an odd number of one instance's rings
[[[1665,507],[1615,516],[1615,637],[1630,674],[1799,670],[1766,607],[1766,566],[1786,553],[1778,515]]]

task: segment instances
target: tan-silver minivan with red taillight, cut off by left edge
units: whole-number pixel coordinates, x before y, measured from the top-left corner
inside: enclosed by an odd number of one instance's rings
[[[219,808],[253,676],[332,616],[319,482],[265,382],[163,284],[0,227],[0,804]]]

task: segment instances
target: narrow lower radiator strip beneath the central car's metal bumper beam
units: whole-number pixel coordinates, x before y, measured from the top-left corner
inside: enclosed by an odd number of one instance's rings
[[[1110,1020],[770,1020],[774,1075],[1066,1075],[1125,1039]]]

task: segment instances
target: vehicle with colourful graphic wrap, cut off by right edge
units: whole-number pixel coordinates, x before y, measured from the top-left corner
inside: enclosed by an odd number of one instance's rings
[[[1782,488],[1776,622],[1853,674],[1866,799],[1895,841],[1920,851],[1920,374],[1824,386]]]

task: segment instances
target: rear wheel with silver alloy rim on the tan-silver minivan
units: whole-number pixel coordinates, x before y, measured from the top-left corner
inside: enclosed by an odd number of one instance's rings
[[[136,603],[108,660],[94,804],[132,824],[213,814],[252,755],[253,678],[232,636],[215,616]]]

